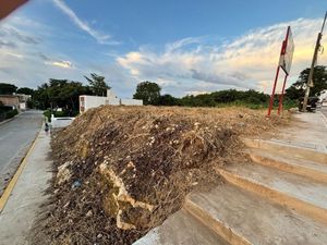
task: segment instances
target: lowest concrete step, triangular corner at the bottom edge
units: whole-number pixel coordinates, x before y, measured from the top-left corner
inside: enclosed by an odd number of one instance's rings
[[[208,226],[184,209],[170,216],[133,245],[227,245]]]

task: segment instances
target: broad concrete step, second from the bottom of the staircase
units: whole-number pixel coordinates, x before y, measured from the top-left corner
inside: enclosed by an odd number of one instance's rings
[[[231,184],[189,195],[184,208],[229,244],[327,243],[326,224]]]

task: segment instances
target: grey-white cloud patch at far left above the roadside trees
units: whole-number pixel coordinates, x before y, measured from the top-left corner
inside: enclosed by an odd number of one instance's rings
[[[50,77],[81,77],[71,57],[50,48],[51,27],[23,16],[10,16],[0,26],[0,83],[35,88]]]

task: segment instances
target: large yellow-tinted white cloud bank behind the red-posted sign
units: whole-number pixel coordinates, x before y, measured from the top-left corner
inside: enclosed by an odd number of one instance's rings
[[[136,81],[178,82],[162,87],[174,95],[228,88],[270,93],[287,26],[291,25],[295,42],[290,84],[310,65],[320,24],[318,19],[299,19],[252,29],[218,45],[210,37],[189,37],[167,44],[164,51],[141,47],[118,57],[117,63]],[[326,56],[319,58],[326,63]]]

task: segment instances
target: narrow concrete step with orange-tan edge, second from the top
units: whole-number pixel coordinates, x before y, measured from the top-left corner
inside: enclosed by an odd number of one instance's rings
[[[255,163],[327,183],[327,164],[301,158],[291,158],[288,155],[276,155],[263,149],[251,149],[246,150],[246,152]]]

